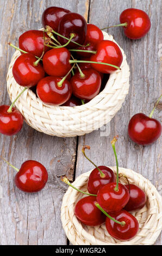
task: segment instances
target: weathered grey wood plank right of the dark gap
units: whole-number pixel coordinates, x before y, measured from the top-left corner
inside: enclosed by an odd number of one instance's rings
[[[127,55],[131,74],[129,95],[119,113],[111,120],[110,135],[103,136],[104,130],[99,130],[79,137],[76,176],[93,168],[82,155],[83,144],[91,146],[91,151],[87,154],[96,164],[114,166],[115,157],[110,141],[113,136],[119,135],[119,141],[116,144],[119,165],[141,173],[161,192],[161,138],[152,145],[142,147],[130,141],[127,135],[127,126],[132,115],[138,112],[149,114],[161,94],[161,59],[158,56],[161,40],[160,5],[159,0],[132,2],[92,0],[90,3],[89,22],[100,28],[118,24],[121,12],[130,7],[146,11],[151,17],[152,27],[145,38],[136,41],[126,38],[122,28],[109,29],[109,34],[114,36]],[[160,120],[160,109],[155,110],[154,117]],[[159,245],[160,241],[162,240],[159,237],[156,244]]]

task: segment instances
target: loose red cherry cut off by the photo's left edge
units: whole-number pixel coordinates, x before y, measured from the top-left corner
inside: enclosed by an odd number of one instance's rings
[[[9,107],[8,105],[0,106],[0,132],[4,135],[12,136],[22,129],[23,116],[14,107],[12,112],[8,113]]]

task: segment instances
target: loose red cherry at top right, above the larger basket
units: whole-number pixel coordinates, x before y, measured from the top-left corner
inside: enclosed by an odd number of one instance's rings
[[[127,22],[127,26],[123,29],[124,34],[130,39],[142,38],[151,27],[151,22],[145,11],[135,8],[124,10],[120,15],[120,22]]]

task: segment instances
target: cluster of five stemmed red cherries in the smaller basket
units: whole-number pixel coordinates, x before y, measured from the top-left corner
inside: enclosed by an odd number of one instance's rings
[[[115,142],[113,138],[111,145],[116,159],[116,181],[113,170],[106,166],[96,166],[86,155],[85,146],[82,152],[86,159],[95,165],[95,169],[89,175],[87,189],[89,193],[78,190],[66,177],[61,180],[76,189],[78,192],[88,196],[80,199],[74,208],[74,213],[78,220],[85,225],[95,227],[105,222],[108,233],[118,240],[130,240],[139,230],[139,223],[129,211],[137,211],[144,207],[146,203],[145,192],[134,184],[129,184],[126,176],[119,175],[119,167],[116,156]],[[127,179],[128,184],[119,182],[119,177]]]

